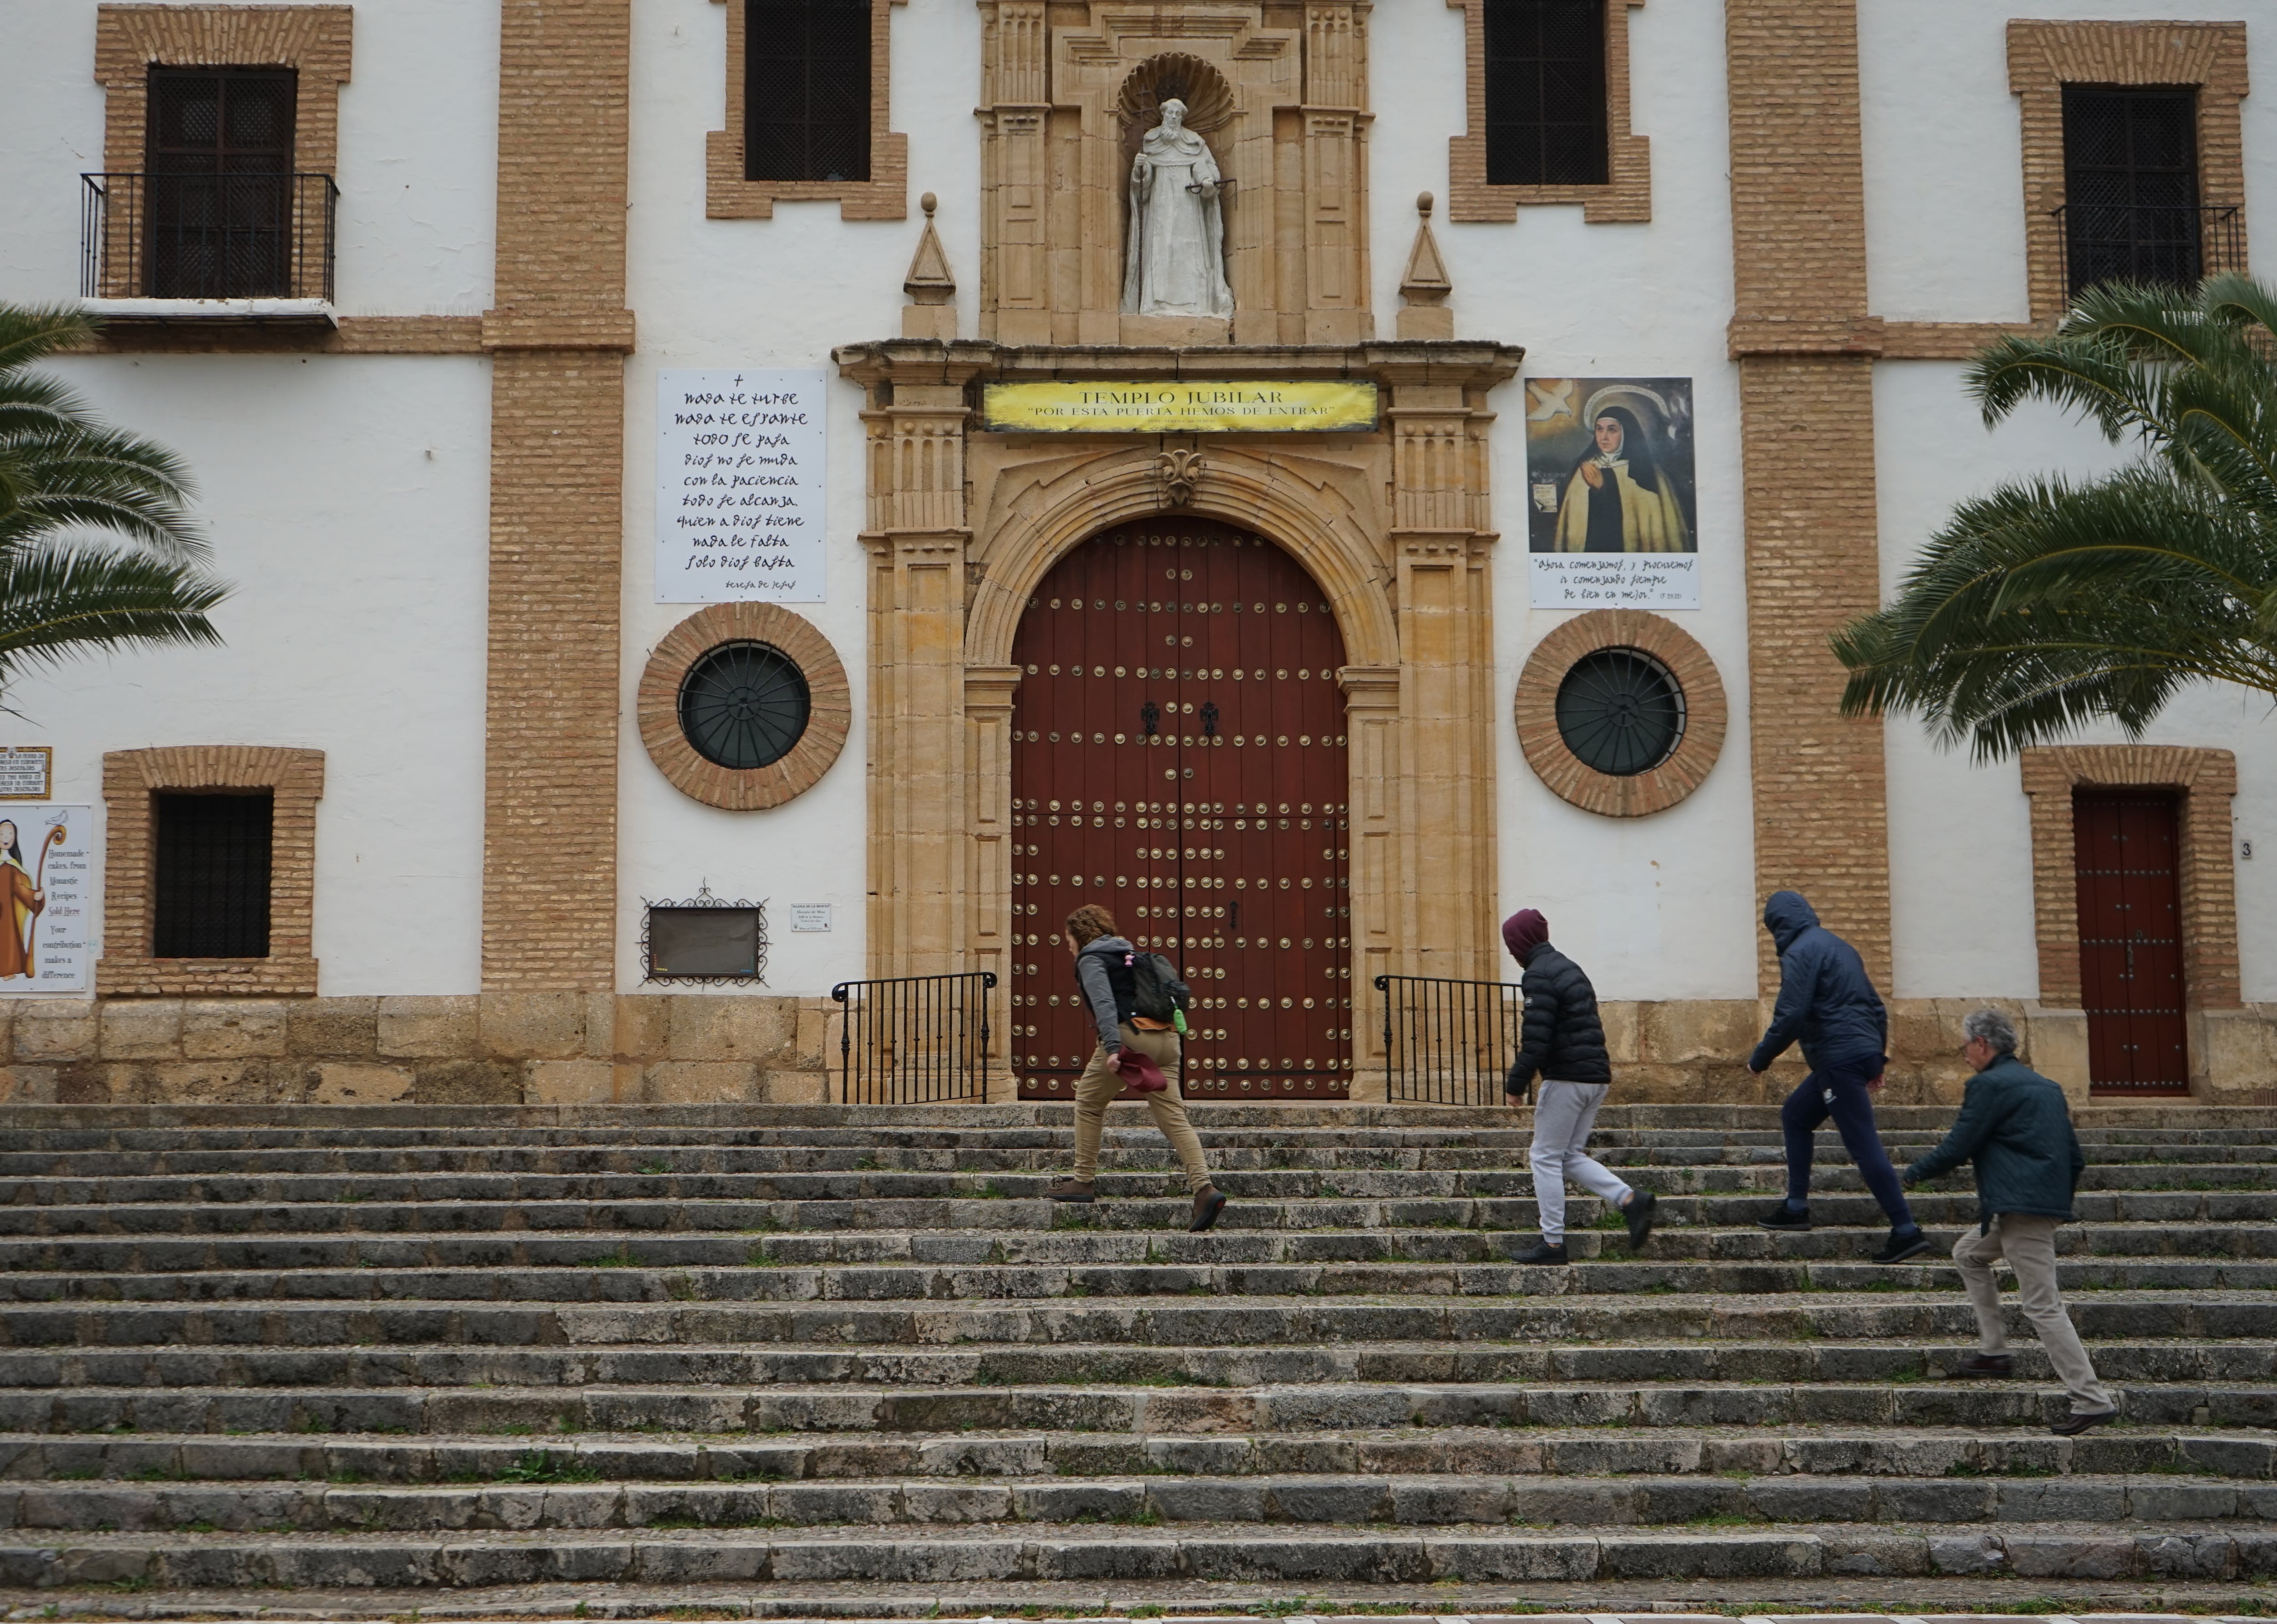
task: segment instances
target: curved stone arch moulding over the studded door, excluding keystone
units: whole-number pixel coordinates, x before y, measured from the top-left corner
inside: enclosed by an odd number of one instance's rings
[[[1209,462],[1186,512],[1243,524],[1282,547],[1321,585],[1337,615],[1353,665],[1396,667],[1400,631],[1382,585],[1382,563],[1368,547],[1364,515],[1337,492],[1291,481],[1275,462],[1239,449],[1209,449]],[[1029,594],[1061,558],[1088,538],[1161,510],[1152,444],[1123,446],[1054,476],[1041,508],[997,515],[988,526],[988,569],[965,622],[965,665],[1011,661],[1013,633]],[[1036,487],[1029,487],[1034,492]]]

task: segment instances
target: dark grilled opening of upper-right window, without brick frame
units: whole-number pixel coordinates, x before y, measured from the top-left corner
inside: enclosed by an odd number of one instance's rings
[[[2063,251],[2072,294],[2095,282],[2195,287],[2204,273],[2197,91],[2063,87]]]

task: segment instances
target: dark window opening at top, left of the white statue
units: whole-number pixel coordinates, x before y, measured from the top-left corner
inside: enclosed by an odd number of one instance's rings
[[[745,0],[745,180],[870,178],[870,0]]]

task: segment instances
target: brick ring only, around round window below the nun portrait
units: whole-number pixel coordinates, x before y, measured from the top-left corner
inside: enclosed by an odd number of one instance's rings
[[[1639,649],[1669,667],[1685,695],[1685,736],[1651,772],[1614,777],[1576,756],[1557,731],[1557,686],[1573,663],[1598,649]],[[1512,704],[1526,765],[1560,799],[1605,818],[1649,818],[1696,790],[1724,752],[1731,702],[1724,679],[1692,633],[1642,608],[1594,608],[1557,626],[1526,656]]]

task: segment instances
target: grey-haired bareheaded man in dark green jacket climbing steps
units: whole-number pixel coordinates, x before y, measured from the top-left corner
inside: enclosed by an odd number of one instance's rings
[[[1960,1360],[1960,1376],[2008,1376],[2008,1330],[1999,1312],[1992,1264],[2015,1269],[2024,1319],[2040,1332],[2047,1362],[2056,1367],[2072,1412],[2052,1428],[2077,1437],[2120,1412],[2095,1380],[2088,1351],[2079,1346],[2072,1317],[2056,1294],[2056,1225],[2072,1216],[2079,1189],[2079,1137],[2063,1089],[2015,1057],[2015,1023],[1997,1009],[1979,1009],[1960,1023],[1967,1039],[1970,1089],[1945,1143],[1906,1168],[1906,1182],[1938,1178],[1963,1162],[1976,1164],[1979,1228],[1954,1241],[1954,1266],[1976,1310],[1979,1351]]]

